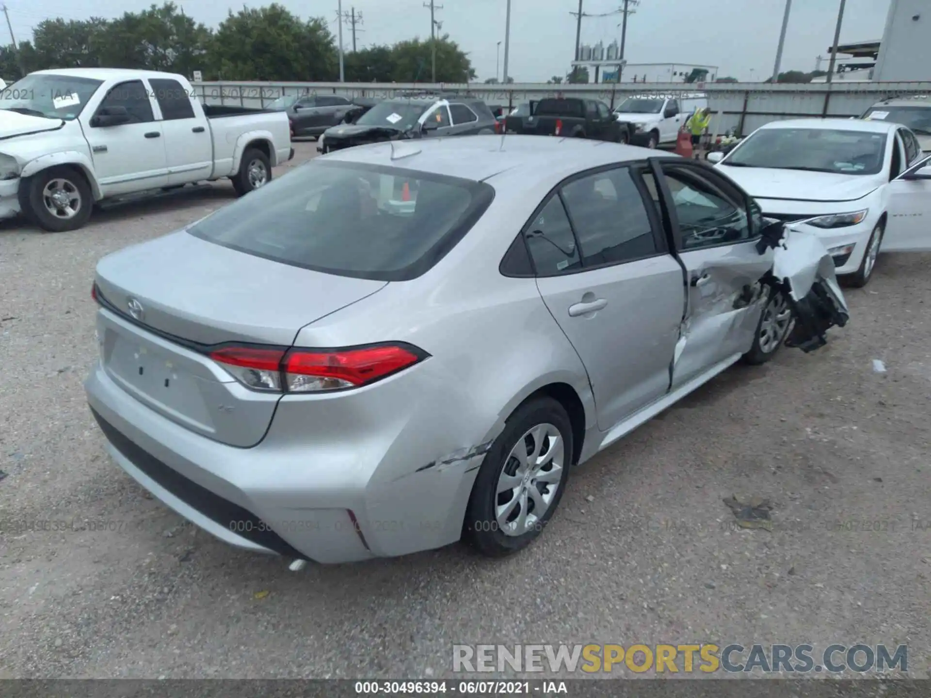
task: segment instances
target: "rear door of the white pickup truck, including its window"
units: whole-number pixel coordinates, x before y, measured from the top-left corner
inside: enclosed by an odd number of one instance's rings
[[[207,118],[195,111],[194,95],[170,78],[152,78],[149,84],[161,112],[169,186],[209,178],[213,146]]]

